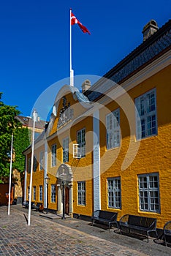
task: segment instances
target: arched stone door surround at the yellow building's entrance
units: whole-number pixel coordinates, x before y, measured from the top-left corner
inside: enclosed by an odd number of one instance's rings
[[[65,206],[65,214],[72,217],[73,213],[73,176],[72,168],[69,165],[62,164],[58,167],[57,173],[57,187],[58,187],[58,209],[57,213],[61,214],[63,212],[63,200]],[[62,189],[64,188],[64,198]]]

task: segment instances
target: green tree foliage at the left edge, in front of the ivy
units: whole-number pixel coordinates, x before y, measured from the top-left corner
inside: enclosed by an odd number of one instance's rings
[[[0,92],[0,183],[4,177],[9,176],[9,158],[11,150],[12,133],[21,127],[15,116],[20,114],[16,106],[5,105],[1,101]]]

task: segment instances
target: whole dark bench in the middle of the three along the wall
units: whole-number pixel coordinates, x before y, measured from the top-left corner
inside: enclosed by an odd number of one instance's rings
[[[119,225],[121,233],[122,231],[129,230],[129,233],[139,233],[140,235],[145,235],[148,238],[150,232],[155,232],[156,237],[158,236],[155,218],[126,214],[121,217]]]

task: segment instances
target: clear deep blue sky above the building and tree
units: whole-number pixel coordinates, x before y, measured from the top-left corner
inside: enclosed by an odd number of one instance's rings
[[[1,0],[2,100],[30,116],[43,91],[56,82],[56,92],[64,85],[69,77],[70,7],[91,31],[83,34],[72,26],[75,75],[102,76],[142,43],[142,28],[149,20],[161,27],[170,19],[170,5],[170,0]],[[47,96],[51,105],[55,94]]]

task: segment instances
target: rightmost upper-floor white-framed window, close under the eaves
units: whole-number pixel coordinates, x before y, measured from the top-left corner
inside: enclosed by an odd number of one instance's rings
[[[135,99],[137,140],[157,134],[156,89]]]

